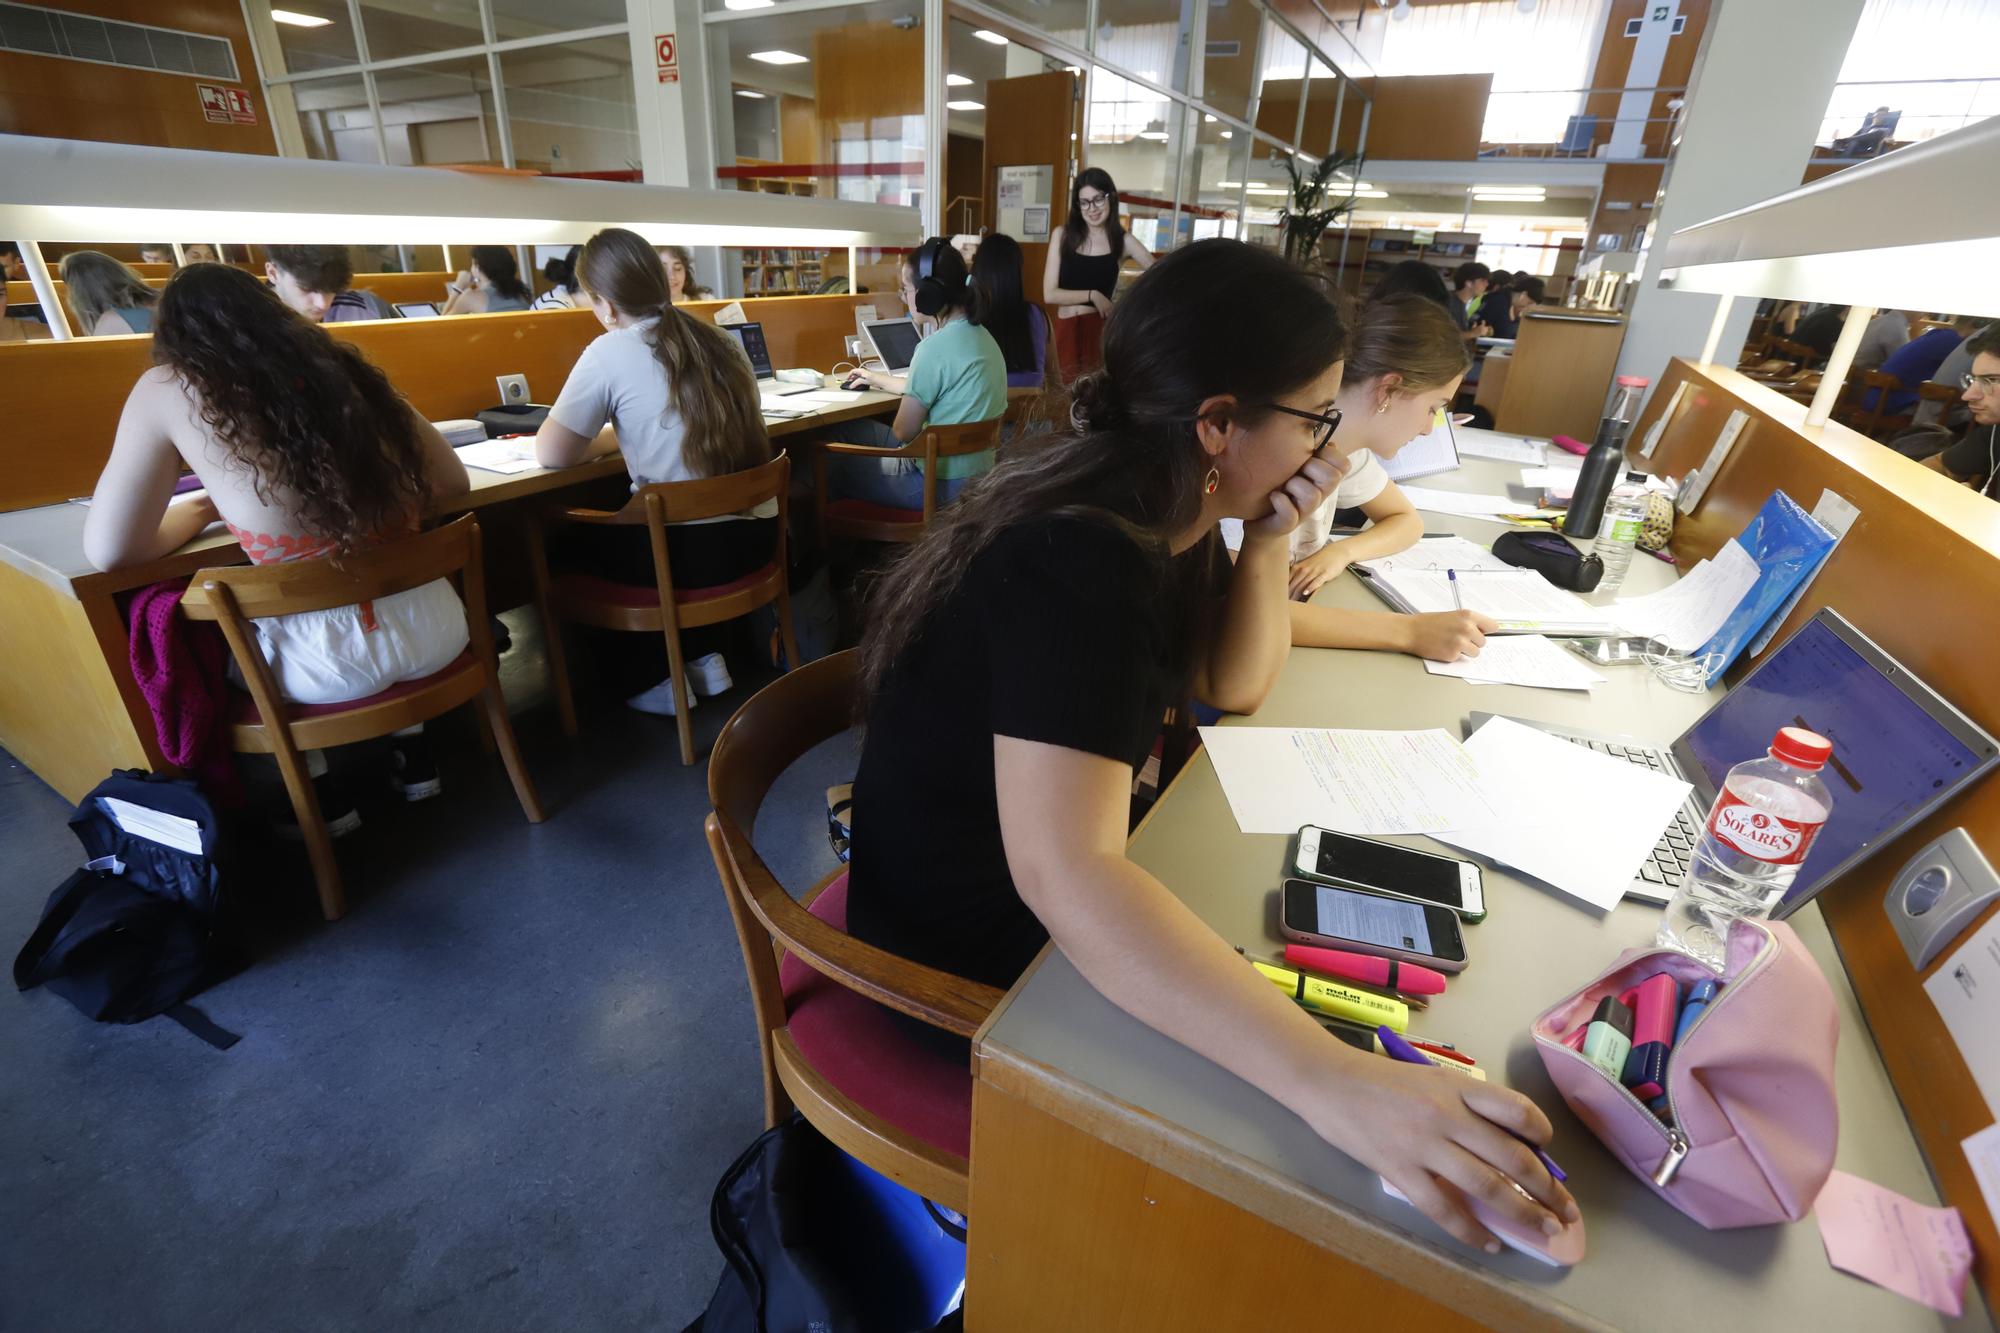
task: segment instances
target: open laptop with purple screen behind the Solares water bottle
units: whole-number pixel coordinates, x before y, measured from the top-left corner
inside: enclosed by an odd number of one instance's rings
[[[1488,717],[1474,713],[1472,729]],[[2000,743],[1832,608],[1768,652],[1670,747],[1514,721],[1694,787],[1626,889],[1646,903],[1666,903],[1688,875],[1702,819],[1732,767],[1762,755],[1780,727],[1832,741],[1820,777],[1834,813],[1772,913],[1778,919],[2000,763]]]

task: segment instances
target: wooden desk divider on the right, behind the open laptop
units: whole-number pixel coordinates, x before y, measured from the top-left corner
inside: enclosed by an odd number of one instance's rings
[[[1834,490],[1860,516],[1772,642],[1832,606],[1972,721],[2000,735],[2000,677],[1992,671],[2000,656],[2000,620],[1992,612],[2000,604],[2000,504],[1846,426],[1808,428],[1806,404],[1734,370],[1682,358],[1652,390],[1632,440],[1646,438],[1682,382],[1688,390],[1660,444],[1652,458],[1634,458],[1634,466],[1686,476],[1708,456],[1730,412],[1750,414],[1700,508],[1692,516],[1676,514],[1674,554],[1682,568],[1736,536],[1772,490],[1784,490],[1806,508],[1822,490]],[[1840,819],[1838,793],[1832,817]],[[1972,1233],[1974,1281],[1988,1309],[2000,1309],[2000,1231],[1960,1149],[1960,1141],[1986,1129],[1994,1113],[1924,993],[1926,975],[1942,967],[1942,959],[1924,973],[1914,971],[1882,911],[1904,863],[1956,827],[1964,827],[1988,859],[2000,861],[2000,783],[1988,777],[1974,785],[1832,883],[1818,903],[1938,1193],[1958,1207]],[[1950,957],[1952,947],[1942,957]],[[1852,1055],[1842,1053],[1842,1059]],[[1846,1131],[1868,1133],[1866,1127]]]

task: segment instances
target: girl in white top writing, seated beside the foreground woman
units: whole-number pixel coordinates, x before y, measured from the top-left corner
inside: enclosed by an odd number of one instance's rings
[[[1346,374],[1340,380],[1340,426],[1332,450],[1346,462],[1340,490],[1292,528],[1292,596],[1306,598],[1356,560],[1408,550],[1424,534],[1424,520],[1402,488],[1382,468],[1410,440],[1432,430],[1448,408],[1470,356],[1458,324],[1422,296],[1392,296],[1362,308],[1348,338]],[[1368,530],[1328,540],[1334,510],[1360,506]],[[1222,520],[1230,550],[1242,544],[1244,524]],[[1406,616],[1394,610],[1338,610],[1292,606],[1292,642],[1310,648],[1386,648],[1454,662],[1476,654],[1494,622],[1474,610],[1440,610]]]

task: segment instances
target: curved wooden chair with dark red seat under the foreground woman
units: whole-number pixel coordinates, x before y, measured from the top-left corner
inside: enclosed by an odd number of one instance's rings
[[[752,847],[778,777],[854,725],[856,656],[836,652],[782,677],[722,729],[708,759],[708,851],[750,973],[764,1123],[798,1109],[868,1167],[964,1211],[970,1065],[914,1041],[888,1011],[972,1037],[1002,993],[850,937],[844,867],[794,899]]]

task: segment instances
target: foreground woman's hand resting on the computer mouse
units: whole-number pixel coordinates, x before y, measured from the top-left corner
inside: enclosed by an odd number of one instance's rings
[[[1496,1255],[1500,1241],[1472,1219],[1466,1195],[1542,1235],[1582,1217],[1570,1191],[1528,1149],[1554,1133],[1532,1101],[1440,1069],[1356,1057],[1340,1089],[1306,1123],[1386,1177],[1434,1223]]]

